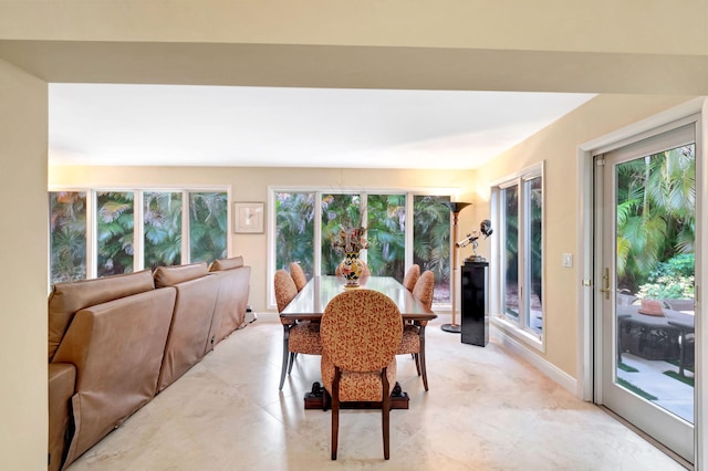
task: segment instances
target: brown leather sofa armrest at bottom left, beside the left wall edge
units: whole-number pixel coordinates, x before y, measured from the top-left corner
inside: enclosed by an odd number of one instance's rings
[[[76,368],[67,363],[49,365],[49,470],[62,468],[64,452],[73,432],[69,402],[74,395]]]

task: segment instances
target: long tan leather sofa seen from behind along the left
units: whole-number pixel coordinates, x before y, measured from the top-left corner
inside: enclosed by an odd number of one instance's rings
[[[238,259],[219,261],[239,264],[227,270],[239,271],[238,276],[209,273],[202,263],[157,269],[155,275],[144,270],[53,286],[50,470],[71,464],[198,363],[217,337],[228,336],[222,312],[242,324],[250,266]],[[238,286],[226,289],[237,280]],[[227,324],[230,328],[233,322]]]

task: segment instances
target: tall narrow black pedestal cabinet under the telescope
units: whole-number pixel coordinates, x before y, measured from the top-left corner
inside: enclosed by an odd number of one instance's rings
[[[462,343],[480,347],[489,343],[488,271],[487,262],[465,262],[462,265]]]

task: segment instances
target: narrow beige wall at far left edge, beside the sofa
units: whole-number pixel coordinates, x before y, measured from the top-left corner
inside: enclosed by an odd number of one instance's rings
[[[46,84],[0,61],[0,469],[46,465]]]

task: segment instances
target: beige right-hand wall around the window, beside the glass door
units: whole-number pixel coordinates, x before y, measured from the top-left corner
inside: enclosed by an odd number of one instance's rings
[[[482,197],[476,206],[477,219],[490,213],[489,186],[533,164],[545,163],[545,357],[558,368],[577,377],[577,263],[561,265],[562,253],[577,257],[577,147],[623,126],[686,102],[688,97],[598,96],[542,132],[499,156],[477,174]]]

